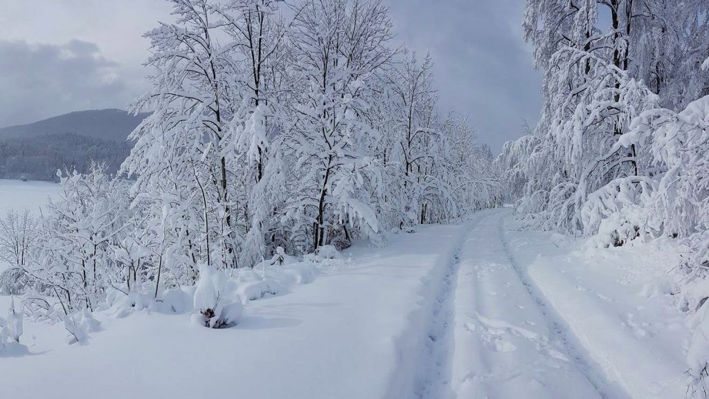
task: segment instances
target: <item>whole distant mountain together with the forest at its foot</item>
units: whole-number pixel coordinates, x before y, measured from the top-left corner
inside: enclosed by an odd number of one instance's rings
[[[57,169],[88,172],[91,162],[115,174],[133,147],[125,139],[149,113],[79,111],[0,128],[0,179],[55,181]]]

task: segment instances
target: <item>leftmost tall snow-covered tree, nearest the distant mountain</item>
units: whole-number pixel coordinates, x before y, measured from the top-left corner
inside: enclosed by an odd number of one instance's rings
[[[147,66],[155,70],[153,86],[132,108],[154,112],[130,135],[135,147],[123,171],[137,177],[136,203],[149,210],[149,218],[161,220],[155,229],[158,263],[169,250],[188,261],[232,267],[237,193],[230,183],[225,135],[235,112],[234,74],[232,48],[217,39],[228,23],[223,18],[228,7],[206,0],[171,2],[177,21],[145,35],[151,42]]]

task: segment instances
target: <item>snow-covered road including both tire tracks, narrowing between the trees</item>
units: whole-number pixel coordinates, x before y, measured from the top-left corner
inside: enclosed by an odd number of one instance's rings
[[[510,261],[505,210],[467,229],[442,280],[416,397],[603,398]],[[428,362],[428,364],[426,364]]]

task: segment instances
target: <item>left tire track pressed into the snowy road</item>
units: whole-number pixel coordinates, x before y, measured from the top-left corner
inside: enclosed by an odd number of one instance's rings
[[[414,378],[413,394],[418,399],[451,398],[450,389],[451,354],[453,345],[452,325],[454,322],[454,296],[460,269],[460,254],[465,238],[479,223],[491,215],[481,215],[464,228],[457,238],[453,256],[446,265],[445,275],[436,291],[431,321],[426,332],[424,347],[419,356],[418,371]]]

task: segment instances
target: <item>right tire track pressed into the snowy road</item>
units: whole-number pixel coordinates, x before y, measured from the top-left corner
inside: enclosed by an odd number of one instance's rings
[[[570,333],[562,327],[562,322],[560,321],[561,317],[556,314],[553,307],[547,305],[545,297],[542,293],[540,293],[537,286],[535,286],[534,283],[527,278],[525,273],[523,273],[517,260],[510,251],[510,245],[505,237],[504,223],[505,217],[504,215],[500,215],[499,232],[505,255],[508,258],[513,271],[515,271],[515,274],[517,274],[520,279],[520,283],[522,283],[527,293],[529,293],[530,297],[535,301],[535,303],[537,303],[537,307],[546,318],[549,325],[549,330],[551,330],[554,338],[562,344],[562,347],[566,350],[566,354],[568,354],[571,359],[574,359],[576,369],[586,377],[588,382],[590,382],[593,388],[596,389],[598,395],[601,395],[601,398],[630,399],[631,396],[622,390],[622,388],[613,386],[613,384],[604,378],[603,372],[600,371],[599,366],[595,366],[593,361],[582,355],[582,352],[578,349],[580,345],[576,342],[576,337],[570,335]],[[611,386],[613,386],[612,389],[610,388]]]

